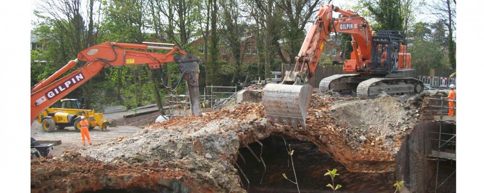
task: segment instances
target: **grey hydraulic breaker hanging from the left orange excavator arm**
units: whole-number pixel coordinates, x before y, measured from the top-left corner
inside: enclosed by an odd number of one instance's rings
[[[199,65],[202,61],[199,57],[194,56],[191,53],[185,55],[176,55],[173,59],[178,64],[178,69],[181,71],[181,73],[184,73],[184,77],[187,80],[188,94],[190,96],[190,103],[192,105],[192,115],[200,115],[200,90],[198,87],[198,76],[200,73]]]

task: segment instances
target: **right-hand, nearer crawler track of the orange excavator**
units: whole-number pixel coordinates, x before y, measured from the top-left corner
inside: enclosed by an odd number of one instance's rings
[[[409,77],[370,78],[358,84],[356,94],[361,99],[373,99],[383,92],[387,94],[420,93],[423,82]]]

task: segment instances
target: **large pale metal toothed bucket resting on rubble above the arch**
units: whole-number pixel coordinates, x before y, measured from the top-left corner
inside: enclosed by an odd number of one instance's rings
[[[311,85],[269,83],[262,89],[266,116],[274,123],[306,128],[308,106],[313,93]]]

